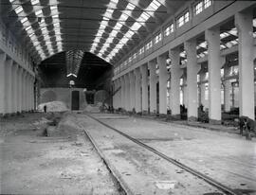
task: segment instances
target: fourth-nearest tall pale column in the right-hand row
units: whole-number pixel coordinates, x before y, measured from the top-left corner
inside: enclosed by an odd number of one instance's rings
[[[171,110],[172,115],[180,115],[180,77],[182,70],[179,67],[179,48],[170,50],[170,59],[172,62],[171,66]],[[184,98],[184,96],[183,96]]]

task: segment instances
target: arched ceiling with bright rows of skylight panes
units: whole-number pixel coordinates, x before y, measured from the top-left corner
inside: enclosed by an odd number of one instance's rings
[[[62,51],[80,49],[113,64],[185,3],[1,0],[1,17],[37,63]]]

